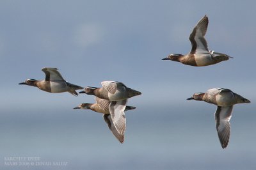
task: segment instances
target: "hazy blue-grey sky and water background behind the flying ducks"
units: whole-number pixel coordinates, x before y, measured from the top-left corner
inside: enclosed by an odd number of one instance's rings
[[[256,169],[255,1],[1,1],[0,169]],[[209,17],[209,49],[234,59],[196,68],[161,61],[186,54],[189,34]],[[73,110],[87,95],[20,86],[59,68],[79,86],[124,82],[143,93],[129,100],[125,143],[102,115]],[[188,101],[230,88],[235,105],[223,150],[215,105]],[[6,166],[6,157],[40,157],[67,166]]]

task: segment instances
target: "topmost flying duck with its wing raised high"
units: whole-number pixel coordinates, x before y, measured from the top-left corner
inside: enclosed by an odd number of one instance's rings
[[[167,58],[163,58],[162,60],[177,61],[184,65],[191,66],[208,66],[232,58],[227,54],[214,52],[214,50],[208,49],[207,42],[204,38],[208,22],[208,17],[205,15],[194,27],[189,36],[192,45],[189,54],[186,54],[185,56],[182,54],[170,54]]]

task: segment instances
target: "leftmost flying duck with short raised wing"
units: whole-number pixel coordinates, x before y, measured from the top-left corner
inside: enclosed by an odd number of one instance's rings
[[[58,72],[57,68],[45,67],[42,68],[42,71],[45,73],[44,80],[38,81],[35,79],[27,79],[26,81],[20,82],[19,84],[35,86],[49,93],[62,93],[67,91],[74,96],[78,95],[76,92],[77,89],[83,89],[81,86],[77,86],[65,81],[60,72]]]

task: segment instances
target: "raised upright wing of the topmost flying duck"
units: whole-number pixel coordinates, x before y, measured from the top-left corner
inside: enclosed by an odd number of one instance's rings
[[[192,33],[189,36],[191,42],[190,54],[208,54],[209,50],[207,42],[204,38],[208,26],[208,17],[205,15],[194,27]]]

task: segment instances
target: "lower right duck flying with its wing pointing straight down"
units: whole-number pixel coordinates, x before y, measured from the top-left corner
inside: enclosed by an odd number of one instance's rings
[[[187,100],[199,100],[217,105],[215,111],[216,130],[223,149],[227,147],[230,137],[229,120],[232,116],[233,105],[250,103],[250,100],[225,88],[213,88],[207,90],[205,93],[195,93],[193,97]]]

